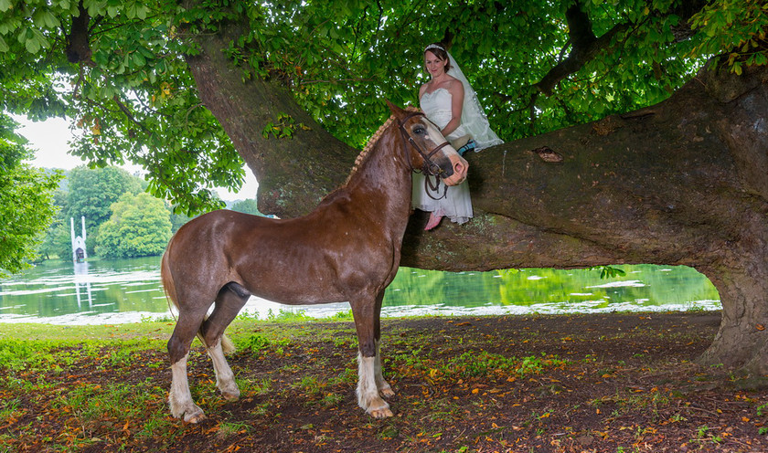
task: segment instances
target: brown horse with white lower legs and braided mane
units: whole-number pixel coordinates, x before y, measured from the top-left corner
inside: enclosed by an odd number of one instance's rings
[[[468,164],[423,113],[389,109],[392,117],[357,157],[347,183],[306,216],[283,220],[215,211],[171,238],[161,275],[178,309],[168,342],[174,416],[204,418],[187,382],[187,354],[196,335],[213,361],[221,394],[240,396],[224,358],[229,345],[223,333],[251,294],[287,304],[349,301],[359,342],[357,403],[371,416],[392,415],[381,398],[394,393],[381,372],[379,313],[400,265],[411,172],[422,169],[453,185],[464,181]]]

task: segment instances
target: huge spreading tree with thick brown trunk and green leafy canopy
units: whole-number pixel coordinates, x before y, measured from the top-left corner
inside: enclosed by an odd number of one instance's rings
[[[215,204],[211,185],[238,186],[244,161],[261,212],[278,216],[344,180],[383,99],[415,103],[422,48],[442,40],[507,143],[469,158],[475,219],[423,233],[414,216],[403,264],[686,264],[723,304],[702,362],[768,372],[763,2],[0,0],[0,11],[6,110],[75,118],[76,153],[141,163],[155,195],[192,210]]]

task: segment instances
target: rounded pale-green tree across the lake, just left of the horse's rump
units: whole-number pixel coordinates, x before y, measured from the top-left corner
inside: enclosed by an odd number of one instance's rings
[[[126,193],[111,206],[112,216],[99,228],[96,254],[101,258],[161,255],[171,238],[165,203],[152,195]]]

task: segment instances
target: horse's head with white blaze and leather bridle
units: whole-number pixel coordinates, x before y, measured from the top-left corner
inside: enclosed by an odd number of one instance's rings
[[[387,104],[400,125],[411,167],[443,178],[445,185],[463,183],[469,163],[445,140],[437,126],[421,111],[404,111],[389,100]]]

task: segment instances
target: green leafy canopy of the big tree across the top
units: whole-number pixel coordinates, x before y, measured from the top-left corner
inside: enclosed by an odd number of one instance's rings
[[[244,83],[287,90],[310,115],[272,106],[252,139],[322,127],[356,148],[388,115],[383,98],[416,103],[431,41],[450,47],[507,141],[656,103],[726,51],[737,72],[768,62],[756,0],[0,0],[0,12],[3,110],[66,115],[74,153],[144,165],[154,195],[191,211],[220,207],[209,189],[243,177],[188,66],[208,34],[224,36]]]

